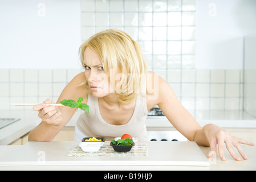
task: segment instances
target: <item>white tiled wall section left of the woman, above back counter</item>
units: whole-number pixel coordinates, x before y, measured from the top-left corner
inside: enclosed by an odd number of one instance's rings
[[[82,69],[0,69],[0,109],[31,109],[14,102],[57,101],[64,86]]]

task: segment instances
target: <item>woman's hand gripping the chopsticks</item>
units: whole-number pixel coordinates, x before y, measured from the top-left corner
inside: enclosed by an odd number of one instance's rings
[[[49,104],[54,104],[50,99],[43,101],[43,104],[38,104],[33,107],[33,110],[38,111],[38,117],[42,119],[43,122],[49,125],[60,125],[62,123],[62,112],[58,106],[50,106]]]

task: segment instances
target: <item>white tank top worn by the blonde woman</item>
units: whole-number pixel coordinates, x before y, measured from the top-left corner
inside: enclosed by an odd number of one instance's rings
[[[145,87],[143,88],[143,91]],[[76,122],[76,127],[88,137],[105,137],[105,140],[113,140],[123,134],[129,134],[139,141],[147,140],[145,121],[148,115],[147,100],[144,93],[138,94],[135,110],[132,118],[125,125],[111,125],[104,121],[99,110],[97,97],[88,95],[87,105],[90,106],[89,114],[83,113]]]

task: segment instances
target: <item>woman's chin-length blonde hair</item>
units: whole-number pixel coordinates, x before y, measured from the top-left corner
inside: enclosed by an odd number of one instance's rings
[[[118,100],[124,104],[132,102],[140,93],[144,76],[147,75],[141,48],[127,33],[120,30],[101,31],[89,38],[79,48],[79,56],[84,64],[84,51],[89,47],[99,57],[105,73],[117,75],[121,71],[121,79],[118,82],[116,93]],[[111,70],[115,73],[111,73]],[[88,88],[87,80],[84,85]]]

